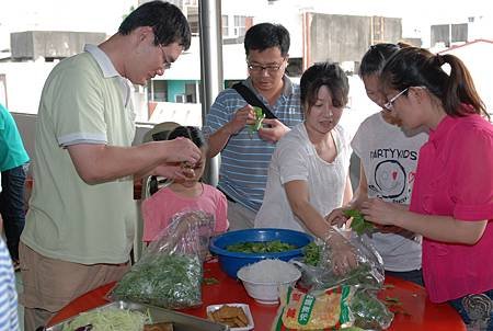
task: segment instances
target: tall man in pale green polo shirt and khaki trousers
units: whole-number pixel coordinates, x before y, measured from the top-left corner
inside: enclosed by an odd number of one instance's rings
[[[163,75],[190,44],[180,9],[146,2],[116,34],[87,45],[48,76],[20,244],[26,330],[45,326],[69,301],[128,270],[137,221],[135,178],[194,174],[202,153],[190,139],[131,146],[131,83],[144,85]]]

